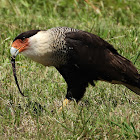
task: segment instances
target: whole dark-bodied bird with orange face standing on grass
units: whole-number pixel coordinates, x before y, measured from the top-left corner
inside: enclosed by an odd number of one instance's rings
[[[54,66],[67,83],[63,105],[79,102],[89,84],[121,84],[140,95],[140,74],[133,63],[99,36],[70,27],[29,30],[12,42],[11,55],[19,53],[44,66]]]

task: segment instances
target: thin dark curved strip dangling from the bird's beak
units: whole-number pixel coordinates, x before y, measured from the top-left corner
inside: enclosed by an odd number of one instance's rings
[[[16,82],[16,85],[18,87],[18,90],[20,92],[20,94],[24,97],[27,97],[25,96],[22,91],[20,90],[20,87],[19,87],[19,84],[18,84],[18,80],[17,80],[17,76],[16,76],[16,67],[15,67],[15,57],[11,57],[11,64],[12,64],[12,68],[13,68],[13,75],[14,75],[14,78],[15,78],[15,82]]]

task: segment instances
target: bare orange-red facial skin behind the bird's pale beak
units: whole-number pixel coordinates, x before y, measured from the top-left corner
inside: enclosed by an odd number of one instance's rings
[[[19,52],[22,52],[26,50],[28,45],[29,45],[28,38],[25,38],[24,40],[21,40],[21,39],[15,40],[12,44],[12,47],[18,49]]]

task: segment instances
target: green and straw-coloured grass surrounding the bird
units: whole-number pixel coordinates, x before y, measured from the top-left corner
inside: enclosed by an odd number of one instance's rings
[[[12,40],[30,29],[68,26],[107,40],[140,71],[138,0],[0,0],[0,139],[140,138],[140,97],[124,86],[97,82],[77,105],[58,108],[66,83],[54,68],[16,59],[22,97],[10,64]]]

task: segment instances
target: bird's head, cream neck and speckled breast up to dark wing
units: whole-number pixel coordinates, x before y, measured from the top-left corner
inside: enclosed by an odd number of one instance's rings
[[[61,28],[49,30],[30,30],[18,35],[12,43],[11,54],[19,53],[44,66],[58,66],[66,63],[67,51],[65,36]]]

